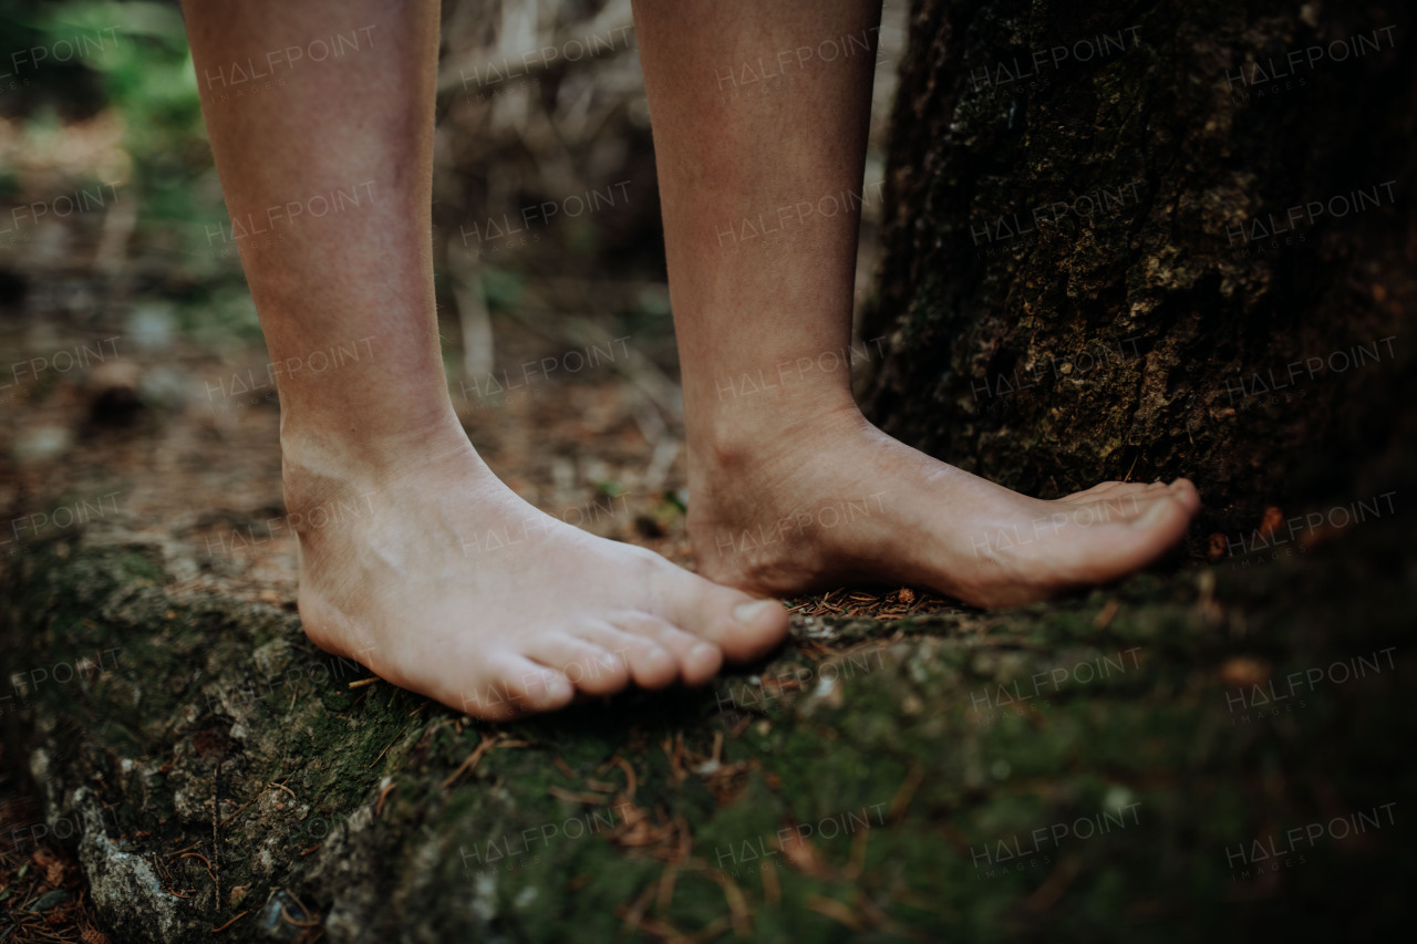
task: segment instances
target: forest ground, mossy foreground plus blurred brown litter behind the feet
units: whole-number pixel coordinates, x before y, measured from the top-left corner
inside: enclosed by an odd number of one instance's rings
[[[60,322],[6,347],[129,346],[18,386],[0,420],[6,669],[28,676],[6,690],[10,941],[1238,940],[1401,920],[1401,516],[1002,614],[842,588],[789,601],[789,646],[707,692],[472,723],[299,632],[278,407],[239,391],[266,376],[259,346]],[[496,330],[499,376],[567,350]],[[691,566],[680,429],[636,370],[480,386],[459,412],[541,509]],[[1410,468],[1397,454],[1372,482]],[[94,816],[108,845],[77,849]],[[130,853],[150,887],[115,865]]]

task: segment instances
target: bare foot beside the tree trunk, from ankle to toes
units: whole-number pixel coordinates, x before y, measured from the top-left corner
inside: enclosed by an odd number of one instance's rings
[[[1199,507],[1186,479],[1026,498],[890,438],[854,405],[690,448],[700,573],[760,594],[871,581],[979,607],[1032,602],[1151,564]]]

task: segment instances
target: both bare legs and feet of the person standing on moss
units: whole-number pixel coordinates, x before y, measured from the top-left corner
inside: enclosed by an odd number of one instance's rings
[[[874,55],[802,64],[781,94],[755,99],[723,95],[713,69],[828,37],[873,38],[879,4],[635,7],[683,363],[689,529],[713,581],[538,512],[458,421],[432,278],[438,4],[183,9],[228,213],[281,237],[237,241],[272,363],[340,344],[373,352],[317,378],[278,376],[286,507],[292,520],[327,522],[298,537],[302,622],[329,652],[468,714],[554,710],[577,693],[700,685],[726,661],[761,658],[788,629],[767,594],[866,578],[978,604],[1040,598],[1149,563],[1199,506],[1185,481],[1104,483],[1061,503],[1019,496],[876,431],[846,371],[761,400],[717,393],[726,377],[849,342],[854,214],[802,225],[767,252],[724,252],[706,232],[748,210],[860,189]],[[356,31],[367,44],[341,57],[292,65],[283,52]],[[283,81],[235,96],[237,64]],[[341,213],[289,208],[354,189],[367,200]],[[849,526],[802,515],[873,493],[877,510]],[[1068,519],[1022,551],[986,540],[981,556],[979,534],[1076,513],[1100,493],[1134,512]],[[360,512],[317,513],[329,507]],[[781,547],[745,554],[730,541],[724,553],[723,534],[786,516],[812,524]]]

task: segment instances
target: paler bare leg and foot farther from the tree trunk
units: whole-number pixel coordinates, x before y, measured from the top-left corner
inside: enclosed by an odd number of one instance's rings
[[[483,717],[700,683],[777,645],[781,605],[537,512],[468,442],[434,318],[438,4],[184,11],[228,211],[266,231],[238,245],[276,364],[286,505],[306,522],[309,636]],[[286,52],[332,35],[359,48]]]

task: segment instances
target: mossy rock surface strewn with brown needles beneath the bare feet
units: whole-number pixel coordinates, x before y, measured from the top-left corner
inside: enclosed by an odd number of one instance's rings
[[[4,717],[120,940],[1352,940],[1417,877],[1401,517],[496,726],[71,536]]]

